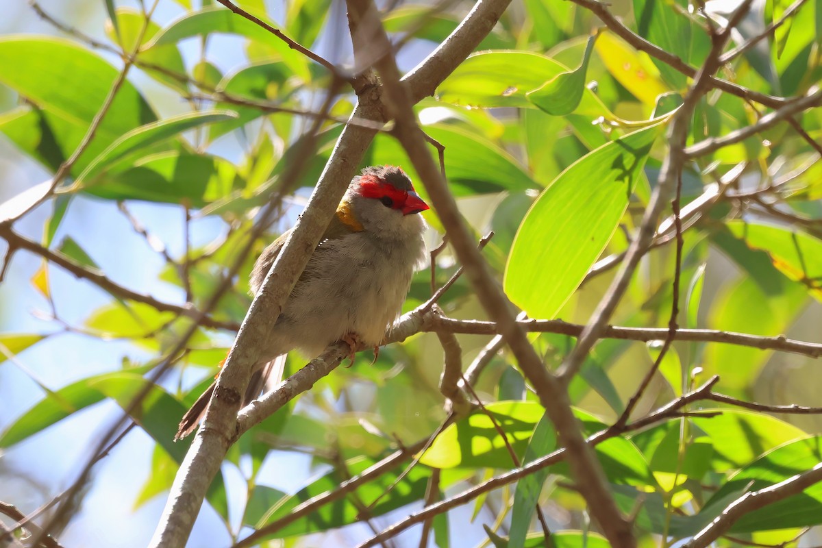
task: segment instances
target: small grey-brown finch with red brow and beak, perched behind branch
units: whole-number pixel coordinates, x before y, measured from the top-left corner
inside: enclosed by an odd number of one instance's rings
[[[359,344],[375,348],[376,354],[386,330],[399,318],[414,271],[423,265],[426,224],[419,213],[427,209],[401,168],[371,166],[353,177],[260,349],[243,405],[258,397],[264,385],[279,383],[284,356],[291,350],[316,357],[342,340],[349,343],[352,362]],[[291,230],[256,260],[252,294],[260,291]],[[196,430],[215,384],[183,415],[175,441]]]

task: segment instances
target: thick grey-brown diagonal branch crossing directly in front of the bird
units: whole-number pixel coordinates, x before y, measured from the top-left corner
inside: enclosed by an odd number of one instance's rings
[[[429,56],[417,69],[426,75],[425,80],[409,81],[409,87],[418,86],[418,92],[429,90],[427,94],[433,93],[436,85],[464,60],[459,54],[467,56],[476,48],[485,37],[481,29],[487,28],[490,31],[509,2],[510,0],[480,0],[469,14],[470,21],[463,21],[446,39],[446,51],[452,56],[450,62],[440,62],[438,67],[427,69],[425,65],[429,62]],[[379,88],[363,85],[358,90],[358,99],[351,119],[386,122]],[[319,242],[375,134],[376,130],[370,127],[349,124],[339,136],[306,211],[272,265],[261,292],[252,302],[246,320],[243,321],[233,350],[219,377],[215,397],[212,398],[204,424],[175,477],[163,518],[150,542],[153,548],[185,545],[205,498],[205,491],[219,470],[233,432],[236,431],[240,394],[248,383],[251,367],[256,360],[254,341],[266,337],[267,325],[273,325],[273,322],[262,319],[279,315],[286,297],[305,268],[308,257]],[[220,379],[224,379],[222,384]]]

